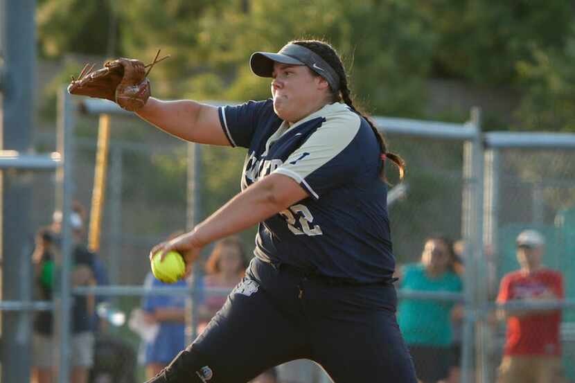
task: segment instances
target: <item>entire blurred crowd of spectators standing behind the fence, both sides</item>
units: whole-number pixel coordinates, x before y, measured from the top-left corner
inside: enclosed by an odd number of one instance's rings
[[[77,286],[109,284],[104,262],[85,243],[86,213],[73,204],[70,226],[73,233],[73,269],[71,283]],[[32,261],[37,299],[53,299],[55,268],[61,260],[62,213],[56,211],[53,221],[40,228]],[[179,232],[180,233],[180,232]],[[173,238],[179,233],[173,233]],[[484,249],[488,299],[499,309],[488,316],[488,323],[506,335],[498,383],[565,382],[562,371],[560,342],[561,310],[554,306],[531,305],[564,298],[563,276],[544,266],[545,238],[538,231],[524,230],[516,238],[517,270],[497,280],[495,255]],[[409,347],[418,379],[422,383],[456,383],[461,380],[461,342],[465,310],[463,301],[417,296],[418,293],[463,293],[466,267],[466,244],[453,242],[445,235],[432,235],[423,243],[418,262],[397,268],[396,286],[401,297],[397,319]],[[150,272],[143,285],[163,287],[203,287],[204,294],[193,303],[197,313],[197,334],[217,315],[226,303],[226,292],[242,280],[248,254],[238,237],[216,243],[206,261],[197,265],[202,273],[192,273],[185,280],[164,284]],[[201,280],[193,280],[202,275]],[[497,287],[499,285],[499,287]],[[200,290],[200,291],[202,291]],[[414,295],[415,294],[415,295]],[[519,303],[517,305],[517,303]],[[147,295],[141,307],[132,310],[130,329],[141,339],[139,352],[127,342],[107,335],[105,296],[75,295],[71,305],[71,382],[132,383],[136,382],[136,365],[144,368],[146,378],[156,375],[186,344],[186,295]],[[55,382],[58,349],[54,340],[57,320],[51,311],[38,312],[33,322],[33,382]],[[121,353],[122,360],[114,355]],[[256,377],[252,383],[278,382],[274,368]],[[286,375],[288,376],[289,373]],[[284,383],[290,383],[283,380]],[[299,382],[293,382],[299,383]]]

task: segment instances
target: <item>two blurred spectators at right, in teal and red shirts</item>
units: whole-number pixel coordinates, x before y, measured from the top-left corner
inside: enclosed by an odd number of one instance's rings
[[[443,235],[430,236],[423,244],[421,260],[398,267],[400,292],[463,292],[466,244]],[[518,269],[495,276],[495,256],[484,249],[487,278],[484,287],[497,310],[487,323],[497,332],[506,328],[498,383],[565,382],[560,341],[561,310],[556,303],[565,297],[563,276],[545,267],[545,238],[524,230],[515,241]],[[398,323],[409,347],[418,380],[422,383],[461,382],[461,342],[464,306],[445,299],[409,296],[398,305]]]

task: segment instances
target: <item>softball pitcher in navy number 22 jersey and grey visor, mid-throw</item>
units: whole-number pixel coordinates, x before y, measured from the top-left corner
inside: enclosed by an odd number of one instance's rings
[[[245,278],[148,383],[245,383],[301,358],[336,383],[416,383],[395,317],[382,181],[384,162],[403,176],[403,160],[355,109],[329,44],[293,41],[254,53],[250,65],[272,78],[271,99],[212,107],[149,98],[136,112],[186,141],[248,150],[241,193],[150,256],[176,250],[191,267],[206,244],[258,224]]]

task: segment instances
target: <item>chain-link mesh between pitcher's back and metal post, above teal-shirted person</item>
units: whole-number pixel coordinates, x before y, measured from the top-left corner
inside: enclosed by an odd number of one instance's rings
[[[463,143],[393,134],[387,138],[391,150],[407,163],[405,195],[389,205],[393,253],[398,263],[418,262],[430,235],[461,238]],[[388,166],[392,182],[395,174]]]

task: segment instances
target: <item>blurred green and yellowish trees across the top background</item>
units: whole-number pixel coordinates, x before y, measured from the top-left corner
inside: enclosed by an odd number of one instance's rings
[[[539,114],[572,103],[557,89],[569,88],[569,65],[558,63],[572,60],[574,19],[570,2],[528,0],[39,0],[37,8],[44,55],[103,55],[116,34],[116,54],[148,62],[158,48],[169,53],[152,73],[158,96],[267,98],[269,80],[251,73],[249,54],[315,37],[338,48],[369,112],[433,118],[425,81],[452,78],[512,87],[524,95],[517,121],[550,130],[572,129],[569,114]]]

